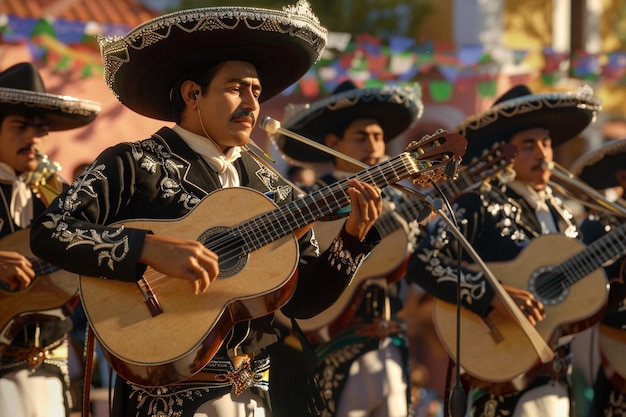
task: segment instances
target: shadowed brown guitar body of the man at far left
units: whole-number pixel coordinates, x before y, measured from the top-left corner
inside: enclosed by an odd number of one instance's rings
[[[21,253],[34,262],[29,236],[29,229],[12,233],[0,241],[0,250]],[[0,351],[3,345],[11,344],[24,325],[62,320],[78,302],[78,276],[61,269],[37,275],[23,290],[0,289]]]

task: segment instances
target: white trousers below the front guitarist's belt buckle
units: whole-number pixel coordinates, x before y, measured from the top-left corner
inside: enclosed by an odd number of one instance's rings
[[[241,395],[226,394],[198,408],[194,417],[265,417],[264,402],[247,389]]]

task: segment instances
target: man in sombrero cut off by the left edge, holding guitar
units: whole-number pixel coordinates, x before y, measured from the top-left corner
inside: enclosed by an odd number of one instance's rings
[[[0,415],[69,416],[67,334],[77,281],[51,284],[30,253],[28,228],[65,183],[48,161],[50,132],[86,126],[89,100],[47,92],[28,62],[0,72]],[[47,183],[46,192],[42,185]],[[61,277],[62,279],[63,277]],[[57,281],[54,281],[57,282]]]

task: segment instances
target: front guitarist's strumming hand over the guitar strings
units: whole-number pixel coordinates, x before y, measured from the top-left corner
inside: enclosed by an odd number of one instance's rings
[[[204,293],[220,272],[217,254],[202,243],[167,236],[147,235],[139,262],[191,282],[195,294]]]

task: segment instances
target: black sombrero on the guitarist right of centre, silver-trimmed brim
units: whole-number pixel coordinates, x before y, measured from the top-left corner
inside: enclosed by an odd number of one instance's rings
[[[572,139],[595,120],[601,100],[589,86],[571,92],[533,94],[518,85],[503,94],[493,106],[459,124],[455,131],[467,138],[463,158],[471,161],[494,143],[506,142],[521,130],[544,127],[554,147]]]

